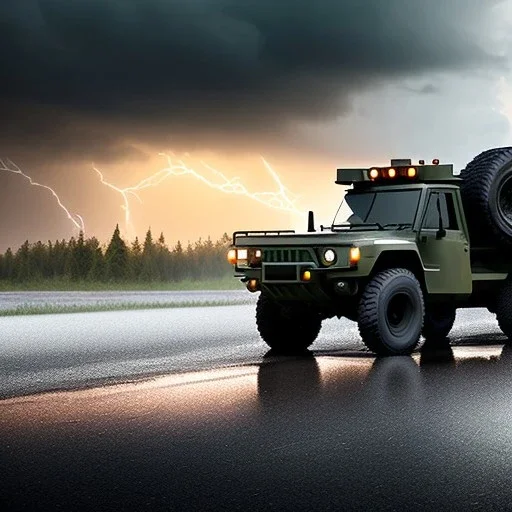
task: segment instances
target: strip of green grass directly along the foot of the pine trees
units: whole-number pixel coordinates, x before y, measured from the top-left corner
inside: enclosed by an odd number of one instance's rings
[[[245,287],[239,279],[228,276],[221,279],[202,281],[177,281],[177,282],[90,282],[71,281],[67,279],[51,279],[44,281],[31,281],[13,283],[0,281],[0,292],[23,291],[186,291],[186,290],[244,290]]]

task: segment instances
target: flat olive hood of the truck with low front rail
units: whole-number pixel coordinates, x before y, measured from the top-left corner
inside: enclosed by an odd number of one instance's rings
[[[250,233],[250,232],[248,232]],[[247,234],[236,236],[236,247],[288,247],[318,245],[373,245],[414,243],[412,231],[371,230],[320,233]]]

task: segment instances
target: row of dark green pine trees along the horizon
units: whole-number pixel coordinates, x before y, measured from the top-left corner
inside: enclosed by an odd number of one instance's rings
[[[226,260],[231,243],[225,233],[213,242],[199,239],[183,247],[178,241],[173,248],[165,243],[164,234],[154,239],[148,229],[143,242],[136,238],[127,243],[116,226],[110,243],[102,247],[95,238],[77,238],[48,243],[29,243],[15,252],[0,254],[0,279],[30,282],[51,279],[71,281],[138,281],[168,282],[205,280],[232,275]]]

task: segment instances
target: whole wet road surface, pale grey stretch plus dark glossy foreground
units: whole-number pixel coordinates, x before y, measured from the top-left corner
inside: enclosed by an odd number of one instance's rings
[[[511,509],[512,350],[492,315],[384,359],[329,321],[310,356],[279,358],[252,307],[207,312],[0,319],[2,510]],[[14,396],[137,365],[168,375]]]

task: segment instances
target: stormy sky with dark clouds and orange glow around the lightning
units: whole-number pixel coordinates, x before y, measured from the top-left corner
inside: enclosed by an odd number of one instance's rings
[[[329,222],[336,166],[439,157],[460,170],[512,143],[511,23],[509,0],[4,0],[0,155],[101,239],[124,212],[92,164],[124,187],[164,166],[162,151],[274,190],[261,154]],[[0,250],[73,234],[48,191],[0,180]],[[131,199],[134,233],[297,222],[221,195],[172,177]]]

